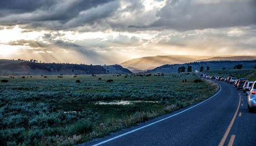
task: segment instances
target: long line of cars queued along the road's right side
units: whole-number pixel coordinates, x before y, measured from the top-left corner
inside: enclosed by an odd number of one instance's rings
[[[224,81],[228,84],[233,84],[237,90],[243,90],[247,95],[247,109],[248,112],[252,112],[256,108],[256,81],[249,81],[245,78],[237,79],[237,77],[220,77],[220,76],[208,76],[201,75],[206,79],[213,79],[218,81]]]

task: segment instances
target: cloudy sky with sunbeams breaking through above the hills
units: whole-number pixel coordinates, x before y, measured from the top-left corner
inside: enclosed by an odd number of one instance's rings
[[[1,0],[0,59],[255,55],[255,0]]]

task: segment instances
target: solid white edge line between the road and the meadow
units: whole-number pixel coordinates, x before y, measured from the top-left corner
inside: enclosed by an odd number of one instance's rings
[[[218,84],[218,85],[219,85],[219,84]],[[175,114],[173,114],[173,115],[171,115],[171,116],[169,116],[169,117],[166,117],[166,118],[160,119],[159,121],[156,121],[156,122],[153,122],[153,123],[147,124],[147,125],[145,125],[145,126],[142,126],[142,127],[140,127],[140,128],[134,129],[134,130],[129,131],[129,132],[126,132],[126,133],[124,133],[124,134],[117,135],[116,137],[113,137],[113,138],[110,138],[110,139],[104,140],[103,142],[100,142],[100,143],[94,144],[94,145],[92,145],[92,146],[98,146],[98,145],[101,145],[101,144],[104,144],[104,143],[110,142],[110,141],[115,140],[115,139],[117,139],[117,138],[123,137],[123,136],[125,136],[125,135],[127,135],[127,134],[130,134],[130,133],[133,133],[133,132],[139,131],[140,129],[143,129],[143,128],[146,128],[146,127],[149,127],[149,126],[151,126],[151,125],[153,125],[153,124],[159,123],[159,122],[161,122],[161,121],[165,121],[166,119],[169,119],[169,118],[171,118],[171,117],[177,116],[178,114],[184,113],[184,112],[188,111],[189,109],[194,108],[194,107],[196,107],[196,106],[199,106],[199,105],[201,105],[202,103],[204,103],[204,102],[206,102],[206,101],[210,100],[211,98],[215,97],[216,95],[218,95],[218,93],[221,91],[221,86],[219,85],[219,87],[220,87],[220,90],[219,90],[217,93],[215,93],[215,95],[211,96],[210,98],[208,98],[208,99],[207,99],[207,100],[205,100],[205,101],[202,101],[202,102],[198,103],[197,105],[194,105],[194,106],[192,106],[192,107],[190,107],[190,108],[187,108],[187,109],[185,109],[184,111],[181,111],[181,112],[179,112],[179,113],[175,113]]]

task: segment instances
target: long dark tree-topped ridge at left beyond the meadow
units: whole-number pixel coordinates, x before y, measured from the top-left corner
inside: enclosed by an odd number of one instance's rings
[[[55,64],[0,60],[0,75],[131,74],[121,65]]]

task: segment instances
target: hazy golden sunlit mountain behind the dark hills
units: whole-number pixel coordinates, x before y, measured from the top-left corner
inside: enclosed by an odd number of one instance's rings
[[[239,60],[256,60],[256,56],[192,56],[192,55],[167,55],[167,56],[149,56],[137,58],[122,62],[121,65],[132,72],[144,72],[154,69],[155,67],[165,64],[185,64],[188,62],[200,61],[239,61]]]

